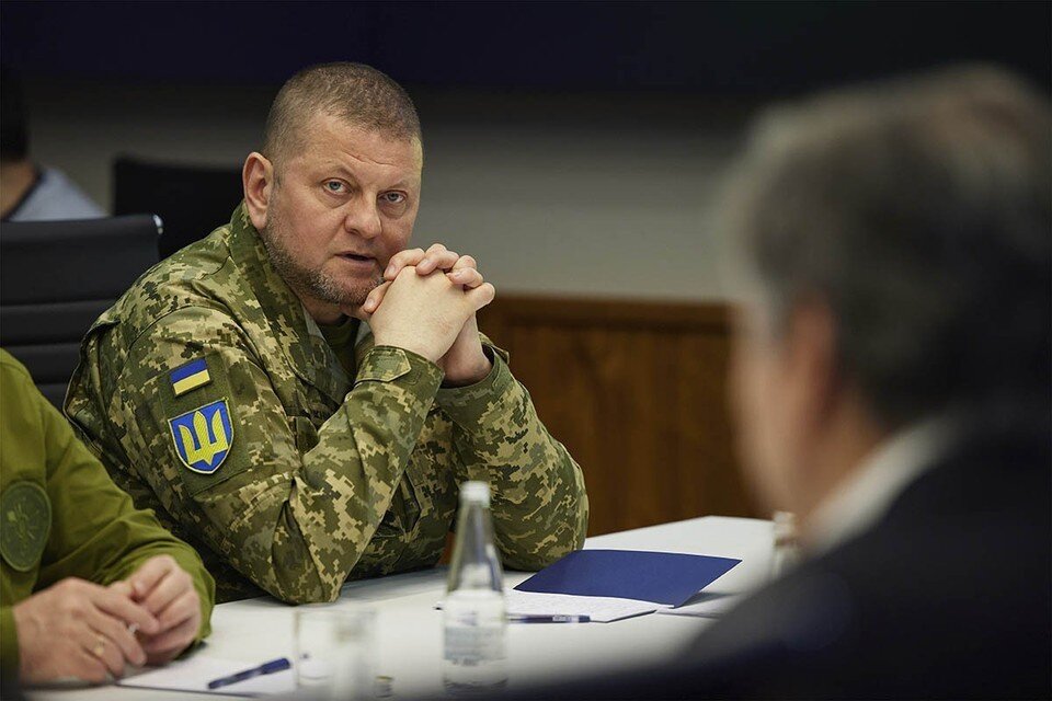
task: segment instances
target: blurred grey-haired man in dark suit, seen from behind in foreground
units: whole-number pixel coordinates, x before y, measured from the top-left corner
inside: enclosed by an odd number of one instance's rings
[[[1048,698],[1052,118],[962,69],[763,119],[727,198],[732,407],[803,562],[554,698]]]

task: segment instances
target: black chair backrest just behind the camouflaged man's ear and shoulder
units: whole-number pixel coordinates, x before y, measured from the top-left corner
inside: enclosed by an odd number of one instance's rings
[[[240,168],[151,163],[129,157],[113,162],[113,214],[159,215],[164,220],[162,258],[230,221],[241,197]]]

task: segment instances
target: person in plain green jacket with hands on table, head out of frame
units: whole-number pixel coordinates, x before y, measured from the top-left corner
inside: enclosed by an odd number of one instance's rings
[[[102,682],[209,632],[215,583],[0,349],[0,673]]]

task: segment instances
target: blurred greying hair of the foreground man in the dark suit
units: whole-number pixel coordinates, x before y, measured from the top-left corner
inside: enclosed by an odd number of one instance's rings
[[[1052,386],[1052,111],[990,67],[777,110],[731,180],[778,334],[832,310],[841,370],[889,428]]]

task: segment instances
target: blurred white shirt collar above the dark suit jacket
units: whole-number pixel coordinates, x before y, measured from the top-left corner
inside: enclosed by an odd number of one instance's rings
[[[871,528],[892,502],[946,450],[952,422],[930,418],[903,429],[867,456],[823,501],[808,525],[808,556],[828,552]]]

